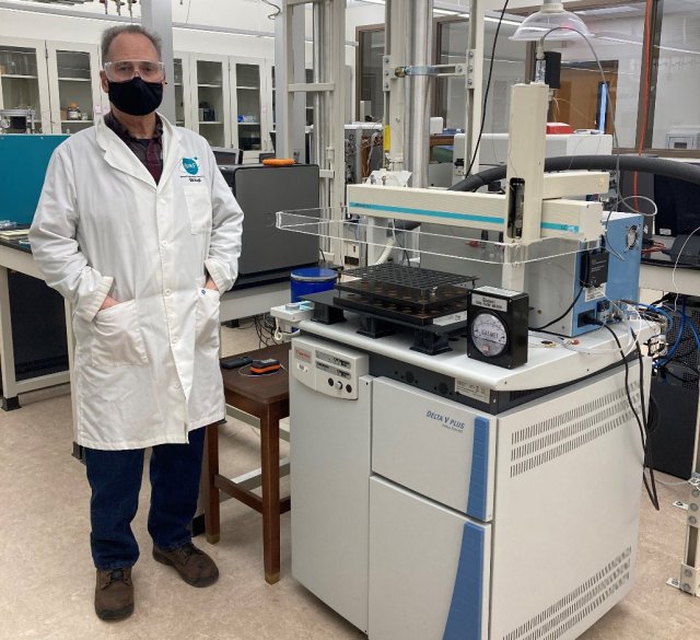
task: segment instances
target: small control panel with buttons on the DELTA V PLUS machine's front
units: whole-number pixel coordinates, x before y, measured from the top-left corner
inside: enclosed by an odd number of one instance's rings
[[[318,338],[292,340],[290,373],[314,391],[346,400],[358,399],[358,382],[370,370],[366,353]]]

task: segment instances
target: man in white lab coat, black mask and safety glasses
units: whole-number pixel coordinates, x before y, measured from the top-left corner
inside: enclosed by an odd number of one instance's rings
[[[30,232],[50,287],[74,307],[75,440],[91,498],[95,610],[133,610],[144,449],[153,557],[194,586],[214,562],[191,544],[205,427],[224,417],[219,296],[237,276],[243,213],[207,141],[155,109],[156,36],[103,35],[112,112],[54,153]]]

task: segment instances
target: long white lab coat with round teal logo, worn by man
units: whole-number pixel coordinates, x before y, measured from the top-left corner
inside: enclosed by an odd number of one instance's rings
[[[224,417],[219,296],[237,276],[243,212],[208,142],[162,119],[158,186],[100,120],[54,152],[30,231],[46,282],[74,306],[75,440],[91,449],[184,443]],[[107,294],[120,304],[98,311]]]

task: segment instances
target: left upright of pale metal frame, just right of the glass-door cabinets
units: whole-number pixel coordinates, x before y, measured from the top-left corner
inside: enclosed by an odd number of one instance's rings
[[[304,94],[290,93],[289,84],[305,82],[304,8],[282,5],[275,21],[275,152],[278,158],[306,161]],[[291,51],[291,55],[290,55]]]

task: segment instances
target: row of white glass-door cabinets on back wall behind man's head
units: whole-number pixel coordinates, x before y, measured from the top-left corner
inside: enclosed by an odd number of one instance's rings
[[[0,38],[0,109],[32,107],[37,132],[75,133],[109,106],[100,85],[100,47]],[[244,160],[272,151],[271,61],[175,51],[175,123],[212,147],[244,150]]]

